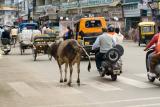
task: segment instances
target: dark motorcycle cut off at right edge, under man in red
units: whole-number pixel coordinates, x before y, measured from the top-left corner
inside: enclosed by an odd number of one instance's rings
[[[148,80],[150,82],[154,82],[155,79],[158,79],[160,81],[160,61],[157,63],[157,65],[155,66],[154,68],[154,72],[155,72],[155,76],[151,76],[149,75],[150,73],[150,69],[149,69],[149,63],[148,63],[148,58],[149,58],[149,55],[152,54],[154,52],[154,47],[151,47],[148,49],[147,53],[146,53],[146,69],[147,69],[147,77],[148,77]]]

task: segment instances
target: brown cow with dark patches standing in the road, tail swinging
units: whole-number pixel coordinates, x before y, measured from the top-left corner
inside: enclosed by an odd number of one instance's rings
[[[77,84],[80,85],[80,60],[81,60],[81,54],[84,52],[88,58],[89,58],[89,64],[88,64],[88,71],[91,69],[91,63],[90,63],[90,57],[85,51],[83,47],[81,47],[78,42],[74,39],[65,40],[60,43],[53,43],[51,45],[51,55],[57,60],[59,69],[60,69],[60,82],[67,82],[67,68],[69,65],[70,68],[70,78],[68,85],[71,86],[72,82],[72,72],[73,72],[73,65],[77,63]],[[61,65],[65,64],[65,78],[63,81],[62,78],[62,67]]]

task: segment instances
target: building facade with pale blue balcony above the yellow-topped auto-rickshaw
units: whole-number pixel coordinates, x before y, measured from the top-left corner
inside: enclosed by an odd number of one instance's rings
[[[151,9],[143,0],[123,0],[123,11],[125,18],[125,30],[136,28],[140,21],[152,21]],[[142,15],[146,10],[146,15]]]

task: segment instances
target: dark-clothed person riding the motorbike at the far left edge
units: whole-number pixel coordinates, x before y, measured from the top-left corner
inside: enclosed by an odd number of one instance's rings
[[[4,29],[4,31],[2,32],[2,36],[1,36],[2,44],[3,44],[3,45],[10,44],[10,40],[11,40],[10,31],[9,31],[9,29],[6,27],[6,28]]]

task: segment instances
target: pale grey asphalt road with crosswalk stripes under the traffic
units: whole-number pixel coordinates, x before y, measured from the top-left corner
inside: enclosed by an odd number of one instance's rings
[[[13,48],[0,56],[0,107],[159,107],[160,82],[149,83],[145,69],[144,47],[124,42],[123,74],[117,81],[99,77],[92,61],[81,62],[81,86],[77,86],[74,67],[73,85],[59,83],[59,69],[47,55],[33,61],[30,50],[20,55]]]

